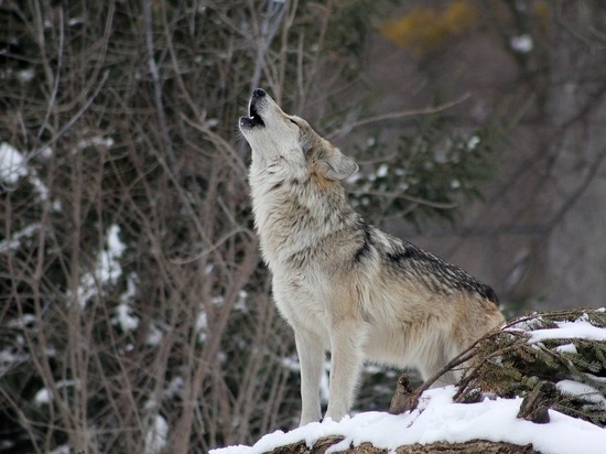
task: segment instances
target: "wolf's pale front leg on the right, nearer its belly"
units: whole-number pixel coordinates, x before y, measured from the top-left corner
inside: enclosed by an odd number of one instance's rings
[[[331,385],[326,418],[340,421],[354,403],[362,365],[365,332],[354,321],[340,321],[331,333]]]

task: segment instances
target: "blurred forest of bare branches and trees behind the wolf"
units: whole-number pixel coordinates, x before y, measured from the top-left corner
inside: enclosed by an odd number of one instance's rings
[[[0,453],[296,423],[237,132],[255,87],[508,315],[606,300],[603,1],[0,0]],[[368,367],[358,408],[398,372]]]

